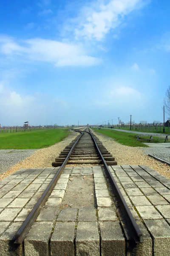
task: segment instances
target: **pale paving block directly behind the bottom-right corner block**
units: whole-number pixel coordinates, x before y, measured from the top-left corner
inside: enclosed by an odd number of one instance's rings
[[[149,206],[136,206],[137,211],[141,215],[142,219],[161,219],[163,218],[159,212],[151,205]]]

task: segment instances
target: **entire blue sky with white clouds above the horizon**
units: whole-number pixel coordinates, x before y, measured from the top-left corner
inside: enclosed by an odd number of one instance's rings
[[[0,124],[163,122],[167,0],[0,1]]]

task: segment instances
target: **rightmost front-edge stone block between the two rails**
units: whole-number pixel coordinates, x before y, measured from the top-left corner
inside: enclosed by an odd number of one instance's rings
[[[119,221],[100,222],[102,256],[125,256],[125,238]]]

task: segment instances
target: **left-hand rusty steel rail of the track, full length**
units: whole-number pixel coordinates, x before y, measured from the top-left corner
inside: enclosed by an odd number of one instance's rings
[[[40,210],[44,206],[45,202],[47,201],[49,195],[51,194],[52,190],[54,189],[54,186],[57,183],[57,180],[59,179],[62,170],[64,169],[65,165],[67,164],[75,146],[79,142],[80,138],[84,134],[84,131],[80,135],[80,137],[77,139],[77,141],[72,146],[71,150],[69,151],[67,157],[65,158],[64,162],[62,163],[62,166],[58,169],[57,173],[55,174],[54,178],[49,183],[48,187],[43,192],[40,199],[37,201],[37,204],[35,204],[34,208],[31,210],[29,215],[27,216],[26,220],[23,222],[23,224],[20,226],[19,230],[17,231],[16,235],[14,236],[14,243],[15,244],[22,244],[23,240],[25,239],[26,235],[28,234],[31,226],[33,225],[34,221],[36,220],[38,214],[40,213]]]

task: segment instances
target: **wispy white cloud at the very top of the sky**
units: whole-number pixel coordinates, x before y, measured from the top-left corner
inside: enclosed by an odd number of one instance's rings
[[[79,25],[74,30],[76,38],[102,40],[105,35],[123,23],[125,15],[141,8],[145,0],[97,0],[90,8],[82,10]]]

